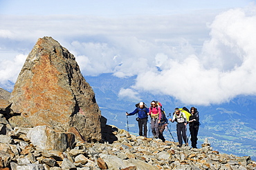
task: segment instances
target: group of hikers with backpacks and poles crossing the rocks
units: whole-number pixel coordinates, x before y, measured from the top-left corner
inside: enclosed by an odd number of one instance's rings
[[[152,100],[150,104],[151,106],[148,108],[145,103],[140,102],[136,104],[136,109],[134,109],[133,112],[126,112],[126,115],[138,115],[136,120],[138,121],[139,136],[144,136],[145,138],[147,138],[147,120],[148,116],[150,116],[150,125],[153,138],[159,138],[163,142],[165,142],[163,131],[165,129],[168,129],[170,131],[170,129],[167,127],[168,119],[166,118],[165,110],[162,108],[161,103],[159,103],[158,101]],[[169,114],[169,116],[171,115]],[[195,107],[191,107],[190,110],[186,107],[183,107],[182,109],[175,108],[172,118],[169,118],[169,120],[172,123],[174,123],[174,121],[176,121],[177,123],[176,133],[179,141],[179,145],[177,147],[182,147],[183,140],[185,142],[185,145],[188,146],[187,124],[189,124],[191,145],[192,148],[197,148],[197,134],[199,131],[199,112],[197,111],[197,109]],[[170,134],[172,136],[171,131]]]

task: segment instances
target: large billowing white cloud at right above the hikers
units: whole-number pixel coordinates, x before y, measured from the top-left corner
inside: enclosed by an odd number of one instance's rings
[[[211,39],[205,42],[201,56],[190,55],[182,62],[169,58],[162,72],[139,74],[134,88],[149,92],[157,88],[159,93],[193,105],[256,95],[255,8],[223,12],[210,28]]]

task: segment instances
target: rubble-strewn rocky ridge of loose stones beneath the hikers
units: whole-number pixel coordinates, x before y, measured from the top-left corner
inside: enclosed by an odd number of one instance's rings
[[[81,142],[51,127],[12,127],[0,114],[0,169],[256,169],[249,156],[176,147],[176,142],[134,136],[102,121],[104,142]],[[4,126],[3,126],[4,125]]]

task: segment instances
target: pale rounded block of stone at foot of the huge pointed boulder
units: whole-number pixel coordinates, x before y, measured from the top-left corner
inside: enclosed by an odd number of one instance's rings
[[[68,148],[66,134],[55,132],[46,125],[30,129],[27,137],[33,145],[41,149],[65,151]]]

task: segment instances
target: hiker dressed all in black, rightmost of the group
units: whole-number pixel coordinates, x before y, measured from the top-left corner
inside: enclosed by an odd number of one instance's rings
[[[197,148],[197,134],[199,131],[199,112],[195,107],[190,108],[190,120],[188,121],[190,125],[190,135],[191,135],[191,145],[192,148]]]

